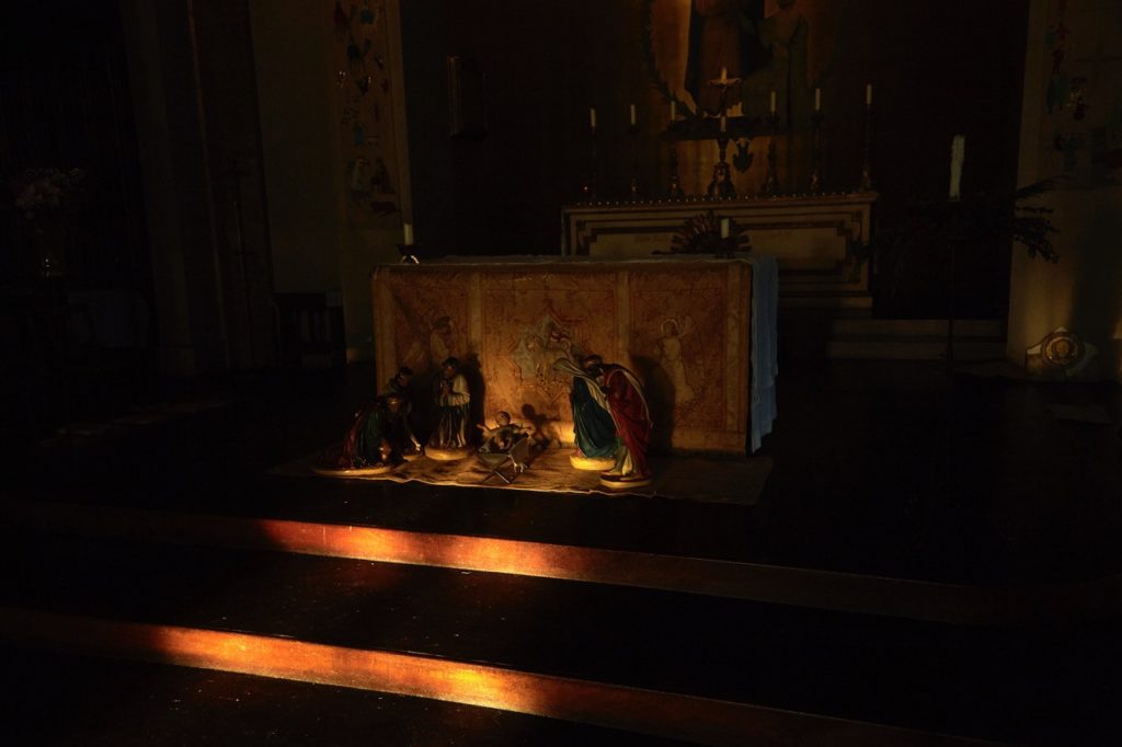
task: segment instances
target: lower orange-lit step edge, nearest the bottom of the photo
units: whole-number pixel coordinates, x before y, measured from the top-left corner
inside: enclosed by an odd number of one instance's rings
[[[703,745],[997,744],[471,662],[11,607],[0,607],[0,635],[67,652],[430,698]]]

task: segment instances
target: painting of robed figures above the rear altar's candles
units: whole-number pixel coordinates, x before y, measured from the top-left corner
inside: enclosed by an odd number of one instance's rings
[[[781,188],[809,178],[815,89],[825,108],[843,95],[836,75],[837,39],[849,10],[845,0],[647,0],[640,46],[647,76],[673,102],[684,131],[703,130],[693,117],[730,120],[734,131],[763,133],[774,105]],[[717,82],[724,80],[725,84]],[[774,104],[773,104],[774,101]],[[734,137],[728,163],[738,194],[764,188],[767,139]],[[705,194],[714,178],[717,144],[686,137],[677,146],[687,194]],[[747,175],[747,176],[745,176]]]

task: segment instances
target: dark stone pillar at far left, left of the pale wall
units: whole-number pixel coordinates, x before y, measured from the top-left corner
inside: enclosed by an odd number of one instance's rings
[[[246,2],[120,8],[158,368],[193,376],[269,366],[270,252]]]

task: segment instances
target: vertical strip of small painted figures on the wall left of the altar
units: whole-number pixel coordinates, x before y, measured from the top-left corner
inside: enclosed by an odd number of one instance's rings
[[[387,1],[325,3],[335,37],[347,221],[364,228],[401,220]]]

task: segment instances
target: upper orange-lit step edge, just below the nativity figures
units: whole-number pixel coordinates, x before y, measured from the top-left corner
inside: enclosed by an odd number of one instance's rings
[[[403,563],[955,625],[1031,626],[1122,612],[1122,574],[1043,588],[856,573],[374,526],[12,499],[9,524],[89,536]]]

